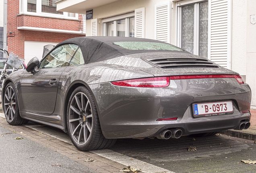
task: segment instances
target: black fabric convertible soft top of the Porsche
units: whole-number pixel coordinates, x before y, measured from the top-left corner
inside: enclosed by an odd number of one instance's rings
[[[145,39],[145,38],[91,36],[91,37],[70,38],[68,40],[65,40],[59,43],[57,46],[61,44],[67,44],[67,43],[77,44],[82,50],[82,53],[85,59],[85,64],[108,60],[111,58],[116,58],[118,56],[124,56],[128,54],[137,54],[137,53],[143,53],[143,52],[180,52],[180,51],[169,51],[169,50],[127,50],[113,44],[113,42],[129,42],[129,41],[161,42],[161,41]]]

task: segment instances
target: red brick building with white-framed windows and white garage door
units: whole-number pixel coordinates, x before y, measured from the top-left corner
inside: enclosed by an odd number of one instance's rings
[[[56,45],[68,38],[85,36],[83,14],[56,11],[56,0],[4,1],[7,2],[4,15],[7,29],[3,34],[7,42],[3,46],[24,57],[25,64],[35,56],[40,60],[43,46],[47,44]]]

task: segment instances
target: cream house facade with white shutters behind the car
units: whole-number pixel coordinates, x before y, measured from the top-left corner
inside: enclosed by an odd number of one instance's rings
[[[58,0],[57,10],[86,14],[87,36],[161,40],[238,72],[256,106],[255,0]]]

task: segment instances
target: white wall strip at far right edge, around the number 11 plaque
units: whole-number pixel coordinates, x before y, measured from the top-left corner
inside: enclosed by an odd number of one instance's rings
[[[256,106],[256,24],[250,23],[250,15],[256,15],[256,1],[247,0],[247,52],[246,83],[252,89],[252,106]]]

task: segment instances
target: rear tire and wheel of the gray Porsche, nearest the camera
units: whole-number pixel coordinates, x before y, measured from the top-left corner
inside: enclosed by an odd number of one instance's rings
[[[116,139],[105,139],[93,97],[86,87],[76,88],[68,101],[68,135],[81,151],[107,149]]]

